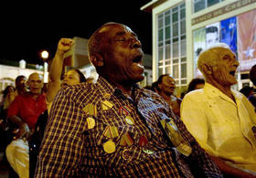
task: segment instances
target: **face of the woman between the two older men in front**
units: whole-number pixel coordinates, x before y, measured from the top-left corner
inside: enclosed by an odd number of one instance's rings
[[[172,95],[176,89],[176,81],[171,76],[165,76],[158,87],[166,95]]]

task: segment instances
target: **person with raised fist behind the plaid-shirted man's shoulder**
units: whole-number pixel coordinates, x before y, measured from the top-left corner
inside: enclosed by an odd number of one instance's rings
[[[85,82],[86,78],[77,68],[69,69],[61,80],[61,73],[64,64],[64,55],[73,46],[74,41],[70,38],[60,38],[55,57],[53,58],[49,69],[49,81],[47,91],[48,112],[51,104],[60,88],[76,85]]]

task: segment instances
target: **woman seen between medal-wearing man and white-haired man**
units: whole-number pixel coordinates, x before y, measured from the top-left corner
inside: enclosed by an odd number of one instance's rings
[[[161,75],[157,80],[158,94],[165,99],[169,107],[180,117],[181,99],[174,95],[176,89],[176,81],[169,74]]]

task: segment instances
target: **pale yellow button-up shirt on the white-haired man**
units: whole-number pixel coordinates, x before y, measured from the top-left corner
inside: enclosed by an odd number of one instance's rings
[[[206,83],[182,100],[181,120],[208,153],[256,172],[256,114],[247,98],[232,93],[236,103]]]

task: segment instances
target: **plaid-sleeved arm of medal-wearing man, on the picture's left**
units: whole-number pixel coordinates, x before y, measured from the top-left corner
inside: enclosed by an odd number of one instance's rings
[[[72,96],[69,89],[60,89],[53,102],[35,177],[69,177],[80,171],[85,152],[81,133],[84,116]]]

